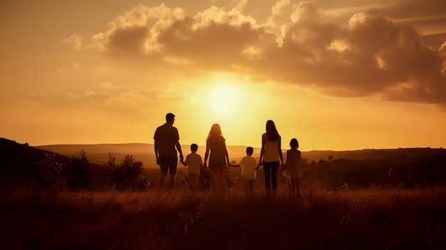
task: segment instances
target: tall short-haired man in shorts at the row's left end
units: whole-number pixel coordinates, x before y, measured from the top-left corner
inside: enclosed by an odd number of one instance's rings
[[[168,113],[166,115],[166,123],[157,127],[153,139],[155,140],[155,156],[157,157],[157,165],[160,165],[161,178],[160,187],[165,186],[167,172],[170,174],[169,187],[175,186],[175,175],[177,175],[178,157],[177,150],[180,152],[180,160],[183,160],[182,150],[180,146],[180,135],[178,130],[173,126],[175,115]],[[176,148],[176,150],[175,150]]]

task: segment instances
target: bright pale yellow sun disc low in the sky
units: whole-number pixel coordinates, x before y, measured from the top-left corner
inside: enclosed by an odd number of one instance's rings
[[[218,115],[234,114],[239,106],[240,90],[237,85],[221,83],[216,85],[208,95],[209,109]]]

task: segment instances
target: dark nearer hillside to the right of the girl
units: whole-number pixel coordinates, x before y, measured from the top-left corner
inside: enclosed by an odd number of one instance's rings
[[[446,154],[383,157],[371,160],[324,160],[306,164],[302,172],[333,187],[370,184],[413,187],[415,184],[446,182]]]

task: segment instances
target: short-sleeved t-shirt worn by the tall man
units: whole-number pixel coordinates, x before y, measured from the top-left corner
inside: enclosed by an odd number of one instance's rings
[[[167,123],[157,127],[153,139],[155,139],[160,155],[177,155],[175,144],[180,140],[180,135],[176,127]]]

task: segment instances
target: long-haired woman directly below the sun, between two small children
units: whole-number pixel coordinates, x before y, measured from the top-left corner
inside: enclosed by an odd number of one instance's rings
[[[209,154],[210,152],[210,154]],[[229,163],[226,142],[222,135],[220,125],[212,125],[209,135],[206,138],[206,153],[204,153],[204,167],[207,167],[207,158],[209,157],[209,169],[212,173],[212,189],[223,193],[224,191],[224,171]]]

